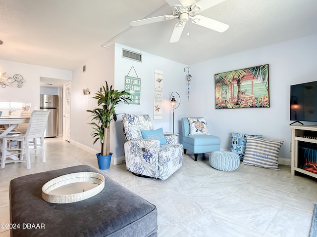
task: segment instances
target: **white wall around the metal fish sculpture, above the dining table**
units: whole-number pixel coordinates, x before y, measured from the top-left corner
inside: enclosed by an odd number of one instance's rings
[[[23,87],[0,87],[0,101],[28,102],[31,110],[40,107],[40,78],[71,80],[72,72],[67,70],[42,67],[32,64],[0,60],[0,71],[8,76],[20,74],[25,79]],[[14,115],[14,114],[12,114]]]

